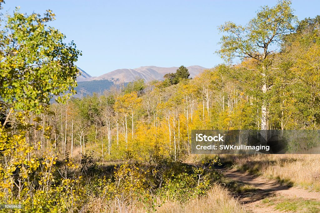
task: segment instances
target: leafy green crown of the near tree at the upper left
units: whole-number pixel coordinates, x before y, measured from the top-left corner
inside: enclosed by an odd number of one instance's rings
[[[80,52],[46,25],[54,16],[50,10],[41,17],[17,9],[5,19],[0,38],[2,113],[4,107],[39,113],[52,97],[63,102],[75,93],[79,73],[74,63]]]

